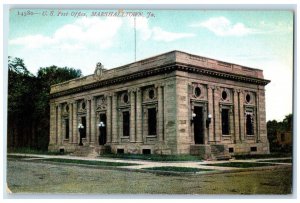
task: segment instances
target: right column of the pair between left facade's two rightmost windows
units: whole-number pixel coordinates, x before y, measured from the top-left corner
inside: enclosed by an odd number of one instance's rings
[[[143,142],[143,131],[142,131],[142,90],[137,89],[136,95],[136,142]]]

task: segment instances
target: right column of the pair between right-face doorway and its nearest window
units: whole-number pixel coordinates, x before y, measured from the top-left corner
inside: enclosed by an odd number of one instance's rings
[[[214,90],[214,119],[215,119],[215,142],[219,143],[222,137],[222,128],[221,128],[221,117],[220,117],[220,88],[216,87]]]

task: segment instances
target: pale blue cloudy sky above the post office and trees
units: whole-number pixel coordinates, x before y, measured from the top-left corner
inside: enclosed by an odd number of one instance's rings
[[[291,11],[11,9],[8,55],[33,74],[56,65],[89,75],[97,62],[111,69],[172,50],[258,68],[271,80],[267,120],[280,121],[292,113],[293,32]]]

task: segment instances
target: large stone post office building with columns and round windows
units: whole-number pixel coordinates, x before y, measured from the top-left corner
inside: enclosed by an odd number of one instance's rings
[[[269,153],[269,82],[262,70],[181,51],[109,70],[98,63],[94,74],[51,87],[49,150]]]

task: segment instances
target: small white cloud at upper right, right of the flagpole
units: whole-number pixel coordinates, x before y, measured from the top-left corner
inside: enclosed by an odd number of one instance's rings
[[[258,33],[257,30],[246,27],[243,23],[233,24],[227,18],[213,17],[200,23],[194,23],[191,27],[204,27],[218,36],[245,36]]]

